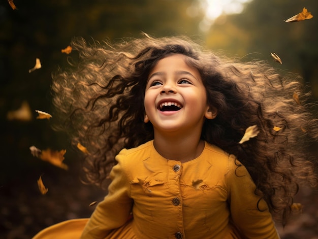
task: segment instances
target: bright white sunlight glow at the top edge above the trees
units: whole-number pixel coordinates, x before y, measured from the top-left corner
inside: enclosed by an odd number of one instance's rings
[[[187,14],[192,17],[199,15],[200,11],[205,14],[204,19],[200,22],[200,29],[208,31],[215,20],[222,15],[239,14],[244,10],[245,4],[252,0],[198,0],[199,9],[190,6]]]

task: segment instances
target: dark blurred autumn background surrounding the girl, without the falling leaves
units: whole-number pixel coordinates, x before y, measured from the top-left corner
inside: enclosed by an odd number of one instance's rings
[[[73,37],[114,42],[141,37],[141,31],[154,37],[186,35],[229,56],[261,59],[283,72],[300,74],[312,100],[318,100],[316,0],[10,2],[17,9],[6,0],[0,3],[0,238],[31,238],[53,223],[89,217],[94,209],[89,204],[106,193],[81,183],[80,152],[70,146],[66,135],[51,129],[54,115],[50,120],[36,119],[35,110],[52,110],[50,75],[58,66],[66,66],[73,53],[61,49]],[[312,19],[283,21],[304,7]],[[42,67],[29,73],[36,58]],[[17,117],[23,109],[28,119]],[[64,162],[69,170],[34,157],[30,146],[66,149]],[[37,186],[41,175],[49,189],[45,195]],[[281,238],[318,238],[317,191],[303,189],[296,201],[303,204],[302,213],[287,227],[278,225]]]

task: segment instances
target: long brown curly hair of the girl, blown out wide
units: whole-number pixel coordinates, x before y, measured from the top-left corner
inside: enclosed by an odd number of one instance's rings
[[[218,111],[205,120],[201,138],[240,160],[274,216],[284,224],[299,185],[316,185],[308,146],[317,142],[318,120],[299,76],[281,76],[262,61],[216,56],[186,37],[146,35],[114,44],[79,38],[72,48],[78,60],[52,74],[53,105],[64,122],[55,128],[87,148],[83,167],[90,183],[103,185],[120,149],[154,138],[151,123],[144,123],[148,74],[160,59],[183,54],[201,75],[208,105]],[[253,125],[258,135],[241,143]]]

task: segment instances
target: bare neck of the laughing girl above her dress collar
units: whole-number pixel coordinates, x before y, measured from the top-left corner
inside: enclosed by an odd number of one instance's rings
[[[197,158],[204,149],[204,141],[200,136],[172,136],[155,134],[153,141],[156,151],[166,159],[182,163]]]

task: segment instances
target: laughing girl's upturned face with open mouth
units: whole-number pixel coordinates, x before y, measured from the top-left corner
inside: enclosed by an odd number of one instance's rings
[[[205,118],[214,118],[207,105],[199,71],[174,54],[158,61],[148,76],[145,91],[145,122],[156,132],[202,130]]]

